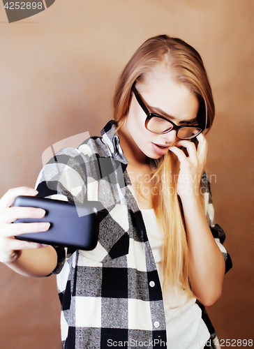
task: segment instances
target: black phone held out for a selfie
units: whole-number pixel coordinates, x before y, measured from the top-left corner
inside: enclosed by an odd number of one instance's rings
[[[50,222],[46,232],[17,235],[16,239],[87,251],[96,247],[100,208],[96,201],[75,204],[36,196],[17,196],[13,206],[38,207],[46,211],[43,218],[22,218],[13,223]]]

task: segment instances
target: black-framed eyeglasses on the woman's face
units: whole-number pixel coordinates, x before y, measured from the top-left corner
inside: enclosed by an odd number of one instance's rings
[[[191,138],[195,138],[202,131],[204,131],[203,128],[197,126],[177,126],[173,121],[168,120],[166,117],[154,112],[149,112],[147,105],[144,104],[144,101],[134,85],[132,90],[135,94],[135,98],[137,99],[137,103],[140,105],[140,107],[142,107],[142,110],[144,110],[145,114],[147,115],[144,126],[148,131],[163,134],[175,130],[177,131],[177,138],[179,138],[179,140],[191,140]]]

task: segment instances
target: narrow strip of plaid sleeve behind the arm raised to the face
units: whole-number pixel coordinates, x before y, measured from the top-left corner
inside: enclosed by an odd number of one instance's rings
[[[201,184],[201,191],[204,197],[204,209],[207,216],[207,221],[209,223],[209,227],[211,229],[212,235],[214,236],[216,244],[223,254],[225,260],[225,273],[227,273],[232,268],[232,260],[230,258],[230,254],[223,246],[223,243],[225,242],[225,232],[214,219],[214,206],[211,200],[211,187],[206,172],[202,174]]]

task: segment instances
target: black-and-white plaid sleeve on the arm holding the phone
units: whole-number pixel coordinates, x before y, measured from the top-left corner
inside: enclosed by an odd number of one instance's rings
[[[85,158],[75,148],[61,149],[40,171],[36,181],[37,196],[68,202],[84,202],[87,198],[87,172]],[[59,274],[75,248],[53,246],[57,251],[57,267],[52,274]],[[50,274],[51,275],[51,274]]]

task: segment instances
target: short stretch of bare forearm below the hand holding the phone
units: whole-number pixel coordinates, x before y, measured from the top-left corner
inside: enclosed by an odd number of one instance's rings
[[[24,276],[43,277],[57,266],[57,253],[52,246],[22,250],[19,258],[6,265]]]

